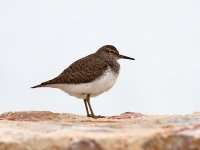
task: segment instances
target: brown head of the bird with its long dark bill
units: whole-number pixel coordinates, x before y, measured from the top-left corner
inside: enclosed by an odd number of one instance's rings
[[[112,45],[102,46],[99,50],[97,50],[96,53],[101,55],[101,56],[103,56],[104,58],[107,58],[107,59],[114,59],[114,60],[130,59],[130,60],[135,60],[134,58],[121,55],[119,53],[119,51],[116,49],[116,47],[114,47]]]

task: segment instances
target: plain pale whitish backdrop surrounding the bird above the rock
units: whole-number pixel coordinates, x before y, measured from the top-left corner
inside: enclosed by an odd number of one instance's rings
[[[136,60],[120,60],[115,86],[91,101],[96,114],[200,110],[199,0],[1,0],[0,113],[85,115],[82,100],[30,87],[106,44]]]

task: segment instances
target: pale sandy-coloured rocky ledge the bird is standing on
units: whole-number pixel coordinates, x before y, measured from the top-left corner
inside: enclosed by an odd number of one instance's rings
[[[0,115],[0,150],[200,150],[200,113],[92,119],[8,112]]]

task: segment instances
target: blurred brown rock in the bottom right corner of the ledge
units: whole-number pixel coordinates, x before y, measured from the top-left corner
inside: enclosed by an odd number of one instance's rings
[[[173,128],[143,144],[144,150],[200,150],[200,125]]]

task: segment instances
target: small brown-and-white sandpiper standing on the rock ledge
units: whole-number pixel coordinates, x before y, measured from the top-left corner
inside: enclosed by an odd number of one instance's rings
[[[121,55],[113,45],[104,45],[95,53],[72,63],[57,77],[31,88],[58,88],[71,96],[83,99],[87,117],[102,118],[104,116],[94,114],[90,98],[113,87],[120,72],[119,59],[135,60]]]

